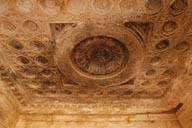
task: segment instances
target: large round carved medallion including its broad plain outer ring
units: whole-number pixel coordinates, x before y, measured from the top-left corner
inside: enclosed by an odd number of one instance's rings
[[[99,28],[79,25],[61,32],[55,56],[61,73],[82,86],[118,85],[133,78],[143,61],[138,37],[123,26]]]

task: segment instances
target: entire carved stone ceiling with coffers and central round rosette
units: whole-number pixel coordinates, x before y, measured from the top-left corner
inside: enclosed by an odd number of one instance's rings
[[[192,89],[191,0],[0,0],[1,80],[23,113],[172,110]]]

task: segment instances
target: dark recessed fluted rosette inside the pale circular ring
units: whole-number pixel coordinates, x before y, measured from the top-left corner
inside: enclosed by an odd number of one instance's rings
[[[72,50],[71,59],[80,71],[89,75],[120,72],[128,62],[129,52],[119,40],[106,36],[89,37]]]

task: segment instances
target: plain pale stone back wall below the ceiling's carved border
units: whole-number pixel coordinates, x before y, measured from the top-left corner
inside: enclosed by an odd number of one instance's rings
[[[152,118],[151,118],[152,117]],[[141,115],[25,115],[16,128],[34,127],[181,128],[174,114]]]

